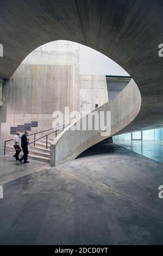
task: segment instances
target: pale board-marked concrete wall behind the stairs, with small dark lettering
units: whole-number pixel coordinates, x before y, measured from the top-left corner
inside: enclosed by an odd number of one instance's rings
[[[1,124],[1,145],[13,137],[10,126],[38,121],[30,133],[51,129],[54,111],[64,113],[65,106],[70,112],[92,111],[95,103],[108,101],[105,76],[79,74],[79,49],[70,41],[50,42],[23,60],[4,86],[7,120]]]

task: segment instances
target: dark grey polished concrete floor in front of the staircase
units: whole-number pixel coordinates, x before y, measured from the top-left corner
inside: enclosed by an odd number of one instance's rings
[[[163,244],[163,164],[115,144],[49,167],[0,157],[1,245]]]

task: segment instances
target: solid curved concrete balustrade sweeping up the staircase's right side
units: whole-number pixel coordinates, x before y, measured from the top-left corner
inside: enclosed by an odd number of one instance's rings
[[[113,136],[135,119],[136,115],[140,111],[140,107],[140,91],[134,80],[131,80],[120,94],[111,101],[105,103],[103,106],[99,107],[97,111],[111,111],[110,136]],[[78,126],[80,123],[82,124],[83,119],[84,117],[77,120],[72,125],[75,124]],[[72,131],[69,128],[62,131],[51,144],[51,166],[56,166],[59,163],[73,160],[87,148],[90,148],[92,145],[108,138],[101,136],[101,132],[101,129],[98,131]]]

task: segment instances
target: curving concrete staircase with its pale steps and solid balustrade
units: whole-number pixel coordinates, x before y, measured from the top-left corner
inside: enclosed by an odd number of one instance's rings
[[[64,130],[58,130],[57,137],[54,135],[54,138],[48,138],[47,149],[47,134],[44,135],[45,137],[40,137],[40,139],[38,138],[35,141],[35,147],[33,143],[30,144],[28,146],[29,159],[51,163],[51,166],[57,166],[62,162],[71,161],[92,145],[95,145],[126,129],[131,121],[136,118],[140,111],[140,107],[140,91],[132,79],[120,94],[96,110],[97,112],[111,112],[109,136],[102,136],[101,129],[89,130],[88,127],[86,127],[86,130],[70,129],[72,125],[79,126],[78,124],[80,121],[83,121],[84,119],[84,117],[82,117],[70,126],[65,127]],[[12,144],[8,145],[7,150],[14,155],[14,148]]]

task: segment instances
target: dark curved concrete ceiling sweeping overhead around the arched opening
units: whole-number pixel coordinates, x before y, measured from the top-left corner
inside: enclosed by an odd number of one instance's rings
[[[0,1],[4,57],[0,75],[9,78],[36,47],[70,40],[120,64],[140,89],[142,106],[123,132],[163,126],[163,4],[159,0]]]

